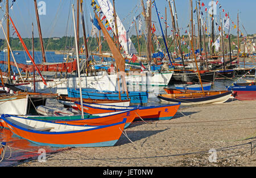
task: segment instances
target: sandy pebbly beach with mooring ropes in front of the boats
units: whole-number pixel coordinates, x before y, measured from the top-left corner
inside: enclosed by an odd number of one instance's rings
[[[180,107],[172,120],[133,122],[113,147],[71,148],[18,166],[252,167],[255,145],[256,101],[229,99]]]

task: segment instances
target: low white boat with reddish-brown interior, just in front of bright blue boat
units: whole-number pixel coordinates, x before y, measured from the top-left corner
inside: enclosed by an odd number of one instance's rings
[[[80,101],[80,98],[72,98],[68,96],[61,95],[59,98],[59,102],[63,103],[64,105],[69,105],[72,107],[76,107],[76,104],[73,104],[75,101]],[[94,103],[94,104],[106,104],[106,105],[118,105],[127,107],[130,105],[129,100],[105,100],[105,99],[82,99],[83,103]]]

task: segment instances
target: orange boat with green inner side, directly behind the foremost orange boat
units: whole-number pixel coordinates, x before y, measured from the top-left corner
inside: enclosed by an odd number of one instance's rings
[[[81,115],[78,116],[27,116],[34,120],[44,120],[56,123],[71,124],[71,125],[109,125],[117,122],[121,122],[123,118],[126,118],[125,128],[127,128],[131,122],[135,119],[138,108],[130,110],[101,113],[97,115],[84,115],[82,119]],[[0,123],[1,126],[1,123]]]

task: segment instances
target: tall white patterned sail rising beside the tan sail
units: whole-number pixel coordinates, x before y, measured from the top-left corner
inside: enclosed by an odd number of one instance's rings
[[[101,7],[102,12],[106,16],[106,19],[110,24],[110,27],[112,27],[113,32],[115,33],[114,16],[113,16],[114,9],[113,9],[112,3],[109,0],[97,0],[97,1]],[[126,54],[137,54],[137,50],[135,49],[118,15],[117,15],[117,31],[118,31],[119,43],[121,44],[123,50],[125,50]]]

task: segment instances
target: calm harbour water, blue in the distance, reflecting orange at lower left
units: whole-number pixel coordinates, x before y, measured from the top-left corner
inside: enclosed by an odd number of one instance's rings
[[[14,57],[17,63],[26,63],[26,60],[29,60],[27,54],[24,52],[19,52],[19,54],[15,54]],[[54,52],[46,52],[46,59],[48,62],[63,62],[64,55],[55,54]],[[42,55],[41,52],[35,52],[35,62],[41,63]],[[6,60],[6,53],[0,53],[0,61]],[[2,71],[6,71],[6,67],[1,65]],[[13,68],[14,71],[15,68]],[[17,71],[16,71],[17,72]],[[234,79],[218,79],[214,82],[211,90],[226,90],[225,86],[229,86],[233,82],[235,82],[238,78]],[[245,79],[253,79],[252,77],[246,77]],[[170,86],[172,87],[172,86]],[[163,87],[159,87],[159,94],[164,94]],[[147,105],[163,105],[159,102],[157,95],[150,94],[148,98]],[[27,141],[26,139],[22,139],[17,135],[13,135],[9,129],[0,128],[0,142],[7,142],[7,145],[11,147],[11,158],[7,160],[3,160],[0,162],[0,167],[3,166],[15,166],[20,162],[24,162],[30,159],[37,159],[39,149],[46,150],[46,154],[50,154],[52,152],[62,151],[63,149],[55,148],[55,147],[47,147],[47,146],[39,146],[35,145]],[[7,149],[6,156],[9,157],[10,150]]]

